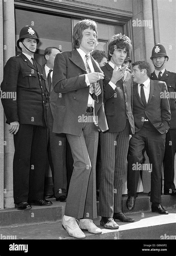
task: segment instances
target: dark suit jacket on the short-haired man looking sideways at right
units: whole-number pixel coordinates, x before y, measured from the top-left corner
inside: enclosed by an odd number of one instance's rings
[[[145,116],[161,134],[166,133],[171,118],[169,99],[161,97],[164,91],[167,92],[166,83],[150,80],[150,94],[146,107],[138,94],[137,83],[134,83],[133,91],[135,133],[141,130]]]

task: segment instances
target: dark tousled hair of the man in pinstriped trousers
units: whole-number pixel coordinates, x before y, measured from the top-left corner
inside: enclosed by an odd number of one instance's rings
[[[126,49],[127,57],[130,55],[132,50],[131,39],[126,35],[116,34],[113,35],[110,44],[108,45],[108,59],[111,59],[111,55],[113,55],[115,49]]]

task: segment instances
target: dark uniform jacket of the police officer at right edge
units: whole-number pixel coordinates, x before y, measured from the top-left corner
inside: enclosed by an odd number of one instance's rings
[[[151,80],[158,80],[155,72],[151,73]],[[167,85],[167,90],[170,93],[170,111],[171,111],[171,121],[170,129],[176,129],[176,98],[171,97],[171,94],[176,94],[176,73],[167,71],[165,69],[161,81],[165,82]]]

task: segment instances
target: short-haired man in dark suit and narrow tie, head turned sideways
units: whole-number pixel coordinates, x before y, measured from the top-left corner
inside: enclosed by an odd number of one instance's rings
[[[133,63],[133,116],[135,134],[132,135],[128,155],[127,208],[133,210],[140,170],[151,172],[151,211],[168,214],[161,205],[162,162],[166,133],[170,126],[170,106],[165,82],[150,80],[150,64]],[[148,167],[142,165],[143,149],[149,157]]]

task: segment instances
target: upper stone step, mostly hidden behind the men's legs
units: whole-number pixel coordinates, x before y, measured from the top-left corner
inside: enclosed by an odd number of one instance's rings
[[[14,208],[0,210],[0,228],[20,227],[24,225],[35,225],[44,223],[59,222],[62,220],[65,211],[65,202],[50,199],[52,206],[32,206],[32,209],[20,211]],[[126,207],[127,196],[122,197],[122,210],[125,213],[134,214],[150,211],[150,197],[144,193],[138,193],[133,211],[128,211]],[[176,197],[162,195],[162,205],[166,209],[175,208]],[[99,203],[97,202],[97,212],[99,215]]]

